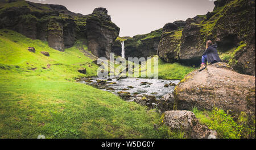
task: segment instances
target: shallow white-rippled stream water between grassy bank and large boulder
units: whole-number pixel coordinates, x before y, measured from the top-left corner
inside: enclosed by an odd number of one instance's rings
[[[81,82],[110,91],[126,101],[145,95],[154,95],[156,99],[160,99],[163,95],[172,93],[179,84],[179,80],[150,78],[84,78]]]

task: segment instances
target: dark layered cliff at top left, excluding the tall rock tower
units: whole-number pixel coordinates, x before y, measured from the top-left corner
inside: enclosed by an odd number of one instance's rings
[[[6,2],[2,2],[5,7],[0,9],[0,28],[14,30],[31,39],[48,41],[49,47],[59,51],[72,47],[79,38],[80,28],[75,22],[84,15],[68,11],[61,5],[23,0],[7,3],[9,5],[5,6]]]

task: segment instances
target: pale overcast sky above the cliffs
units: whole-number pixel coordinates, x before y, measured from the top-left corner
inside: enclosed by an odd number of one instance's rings
[[[147,34],[168,22],[186,20],[207,14],[213,0],[29,0],[64,5],[68,10],[90,14],[96,7],[105,7],[112,22],[120,28],[119,36]]]

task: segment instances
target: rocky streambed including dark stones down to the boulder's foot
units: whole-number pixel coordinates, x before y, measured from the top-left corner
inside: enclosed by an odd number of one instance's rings
[[[179,80],[149,78],[82,78],[80,82],[110,91],[125,101],[134,101],[151,109],[158,107],[163,111],[163,107],[172,109],[172,93],[179,84]]]

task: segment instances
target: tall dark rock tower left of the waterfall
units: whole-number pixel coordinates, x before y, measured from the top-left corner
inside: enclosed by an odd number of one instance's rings
[[[86,19],[88,50],[97,57],[109,59],[109,54],[112,51],[114,40],[119,35],[119,30],[111,22],[106,9],[94,9],[93,13]]]

